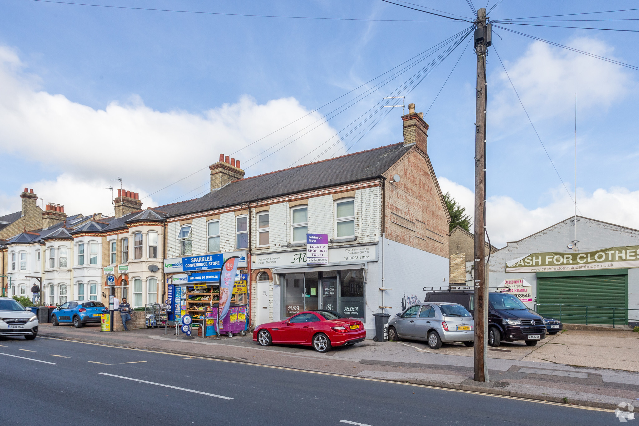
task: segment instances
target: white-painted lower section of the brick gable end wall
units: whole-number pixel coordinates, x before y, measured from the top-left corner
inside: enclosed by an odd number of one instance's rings
[[[366,337],[375,333],[374,313],[381,313],[381,238],[378,246],[378,262],[368,264],[366,279]],[[392,308],[385,312],[393,317],[401,312],[402,299],[406,307],[424,301],[424,287],[447,286],[449,259],[419,248],[408,247],[396,241],[385,240],[385,284],[392,289],[385,291],[384,306]]]

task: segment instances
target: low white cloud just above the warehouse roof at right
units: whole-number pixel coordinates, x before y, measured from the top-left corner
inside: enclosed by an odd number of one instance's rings
[[[474,193],[447,178],[438,178],[443,192],[450,192],[456,201],[474,216]],[[563,187],[551,190],[552,201],[546,206],[527,209],[507,195],[489,197],[486,201],[486,227],[491,243],[504,247],[507,241],[516,241],[556,224],[574,213],[573,201]],[[603,222],[639,229],[639,190],[626,188],[599,188],[592,194],[580,190],[577,194],[577,214]]]

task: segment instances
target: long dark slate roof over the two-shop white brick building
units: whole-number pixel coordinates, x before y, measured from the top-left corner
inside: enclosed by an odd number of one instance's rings
[[[358,153],[330,158],[252,178],[233,181],[203,197],[153,208],[166,217],[235,206],[248,201],[281,197],[329,186],[379,178],[412,146],[382,146]]]

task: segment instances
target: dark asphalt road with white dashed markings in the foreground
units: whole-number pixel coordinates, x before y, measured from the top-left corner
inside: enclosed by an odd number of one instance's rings
[[[0,340],[0,366],[1,425],[619,423],[611,411],[42,337]]]

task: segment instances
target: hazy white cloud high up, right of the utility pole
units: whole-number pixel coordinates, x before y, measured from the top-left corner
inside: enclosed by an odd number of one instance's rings
[[[594,38],[573,38],[565,44],[614,59],[612,47]],[[523,114],[523,110],[496,56],[492,62],[497,74],[497,89],[491,96],[489,119],[495,125],[511,129],[512,118]],[[619,65],[544,42],[531,43],[516,61],[507,61],[503,54],[502,60],[534,122],[572,110],[575,93],[580,109],[605,109],[629,95],[633,84],[631,75]],[[601,110],[597,113],[601,114]],[[527,119],[517,122],[521,126],[528,125]]]

